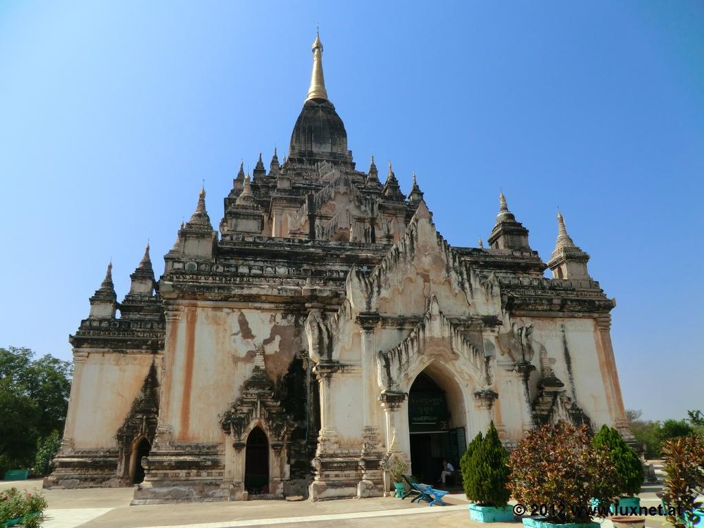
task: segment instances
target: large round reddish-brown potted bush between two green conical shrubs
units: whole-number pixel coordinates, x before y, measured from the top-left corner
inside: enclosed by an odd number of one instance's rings
[[[591,522],[590,499],[608,504],[620,495],[609,453],[593,446],[585,425],[534,429],[511,453],[509,467],[508,489],[529,515],[539,515],[524,517],[526,527],[598,527]]]

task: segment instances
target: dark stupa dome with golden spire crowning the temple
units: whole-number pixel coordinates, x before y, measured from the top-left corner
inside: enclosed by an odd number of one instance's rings
[[[301,161],[330,161],[351,163],[347,150],[345,125],[334,105],[327,99],[325,77],[322,75],[322,43],[320,36],[313,42],[313,73],[310,75],[308,98],[298,115],[291,133],[289,158]]]

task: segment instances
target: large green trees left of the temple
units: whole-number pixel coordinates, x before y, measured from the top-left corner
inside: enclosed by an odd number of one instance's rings
[[[29,348],[0,348],[0,479],[8,469],[47,474],[61,445],[73,367]]]

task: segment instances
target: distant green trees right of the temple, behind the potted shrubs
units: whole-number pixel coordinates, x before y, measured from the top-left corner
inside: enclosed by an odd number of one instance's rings
[[[629,426],[633,436],[646,458],[661,458],[662,444],[677,436],[697,434],[704,436],[704,413],[701,410],[688,410],[686,420],[643,420],[640,410],[627,410]]]

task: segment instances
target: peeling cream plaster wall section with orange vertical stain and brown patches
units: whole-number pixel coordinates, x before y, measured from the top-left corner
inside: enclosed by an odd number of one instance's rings
[[[194,303],[182,308],[174,329],[170,390],[162,403],[168,413],[162,423],[183,442],[222,441],[219,415],[239,396],[258,351],[277,381],[302,348],[296,316],[280,310]]]

